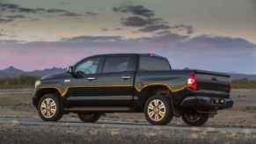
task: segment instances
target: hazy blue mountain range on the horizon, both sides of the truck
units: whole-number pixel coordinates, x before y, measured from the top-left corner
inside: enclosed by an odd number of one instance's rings
[[[53,74],[58,74],[65,72],[66,68],[46,68],[42,70],[33,70],[33,71],[24,71],[18,68],[9,67],[5,68],[3,70],[0,70],[0,77],[15,77],[15,76],[48,76]],[[256,74],[255,75],[247,75],[247,74],[238,74],[235,72],[229,72],[232,79],[249,79],[249,80],[256,80]]]

